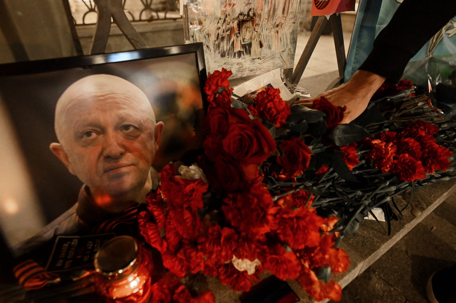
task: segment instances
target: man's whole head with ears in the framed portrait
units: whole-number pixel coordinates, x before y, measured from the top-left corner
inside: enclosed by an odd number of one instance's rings
[[[130,82],[93,75],[72,84],[56,109],[51,150],[98,199],[132,199],[144,188],[163,123]]]

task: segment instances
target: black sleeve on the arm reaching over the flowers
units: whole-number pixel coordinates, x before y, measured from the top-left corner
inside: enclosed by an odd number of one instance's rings
[[[358,68],[399,81],[409,60],[456,15],[456,0],[404,0]]]

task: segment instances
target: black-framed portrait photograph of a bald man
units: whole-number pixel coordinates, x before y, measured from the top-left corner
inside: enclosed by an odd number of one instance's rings
[[[125,209],[156,186],[152,171],[198,148],[204,62],[195,43],[0,65],[8,246],[49,229],[76,202]]]

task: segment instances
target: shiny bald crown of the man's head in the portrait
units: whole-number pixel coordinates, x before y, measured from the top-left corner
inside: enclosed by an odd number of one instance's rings
[[[79,79],[71,84],[57,100],[54,129],[57,139],[64,141],[67,120],[82,102],[100,103],[110,98],[133,101],[138,111],[150,115],[155,124],[155,114],[144,92],[131,82],[113,75],[97,74]]]

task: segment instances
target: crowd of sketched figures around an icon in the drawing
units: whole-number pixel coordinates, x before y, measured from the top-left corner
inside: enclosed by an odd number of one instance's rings
[[[267,16],[262,20],[261,13],[256,16],[254,8],[249,8],[247,14],[240,12],[236,17],[229,13],[222,16],[189,20],[190,42],[203,42],[206,51],[222,58],[261,59],[271,51],[294,54],[295,12],[271,20]]]

